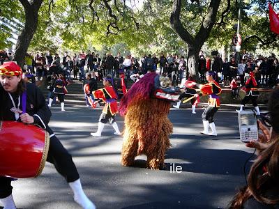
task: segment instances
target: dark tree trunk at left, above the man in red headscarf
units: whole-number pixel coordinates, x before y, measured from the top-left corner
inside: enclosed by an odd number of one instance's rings
[[[17,61],[17,64],[22,67],[24,57],[27,55],[28,47],[38,26],[38,10],[43,0],[36,0],[33,3],[29,3],[27,0],[20,0],[20,2],[24,6],[25,24],[17,39],[14,61]]]

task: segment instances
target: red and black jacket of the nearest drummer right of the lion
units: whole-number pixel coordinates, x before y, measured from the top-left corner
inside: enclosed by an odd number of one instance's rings
[[[202,85],[200,88],[203,94],[209,95],[209,106],[210,107],[220,107],[219,94],[222,92],[222,88],[216,81],[211,81],[208,84]]]

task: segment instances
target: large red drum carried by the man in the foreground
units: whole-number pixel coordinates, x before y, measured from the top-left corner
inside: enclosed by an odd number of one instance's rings
[[[45,167],[50,134],[36,125],[0,121],[0,176],[37,177]]]

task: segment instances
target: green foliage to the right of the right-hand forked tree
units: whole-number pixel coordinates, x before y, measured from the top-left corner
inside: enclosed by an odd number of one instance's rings
[[[273,40],[275,34],[273,34],[269,29],[269,11],[267,9],[267,2],[262,0],[247,0],[243,1],[241,5],[232,5],[231,11],[227,17],[225,17],[225,25],[215,26],[213,31],[211,31],[211,36],[207,41],[210,47],[218,49],[220,46],[232,45],[232,37],[236,33],[233,29],[234,24],[237,24],[239,8],[241,6],[241,21],[240,21],[240,31],[242,37],[241,48],[246,49],[250,52],[255,52],[257,47],[263,49],[269,49],[278,47],[278,38],[275,42],[268,45],[263,43],[270,42]],[[222,12],[227,5],[223,2],[220,7],[220,12]],[[220,14],[219,14],[220,21]],[[258,36],[262,42],[257,38],[250,38],[250,36]],[[247,41],[246,41],[247,40]]]

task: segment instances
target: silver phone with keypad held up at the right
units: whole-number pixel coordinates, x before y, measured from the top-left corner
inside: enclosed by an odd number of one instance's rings
[[[257,116],[254,111],[239,111],[239,134],[242,142],[258,139]]]

